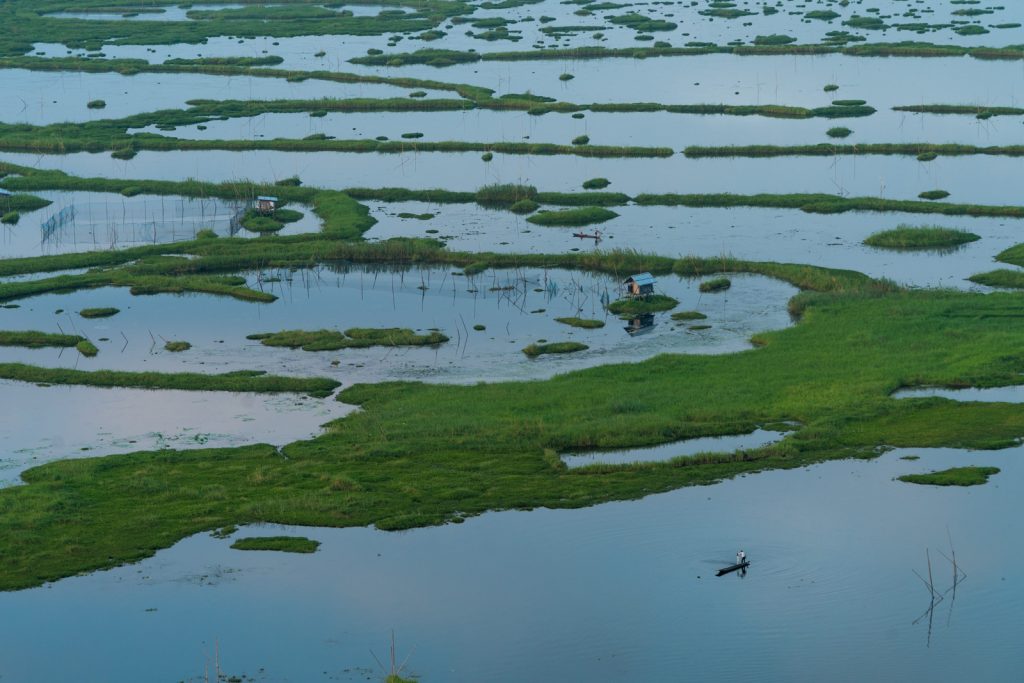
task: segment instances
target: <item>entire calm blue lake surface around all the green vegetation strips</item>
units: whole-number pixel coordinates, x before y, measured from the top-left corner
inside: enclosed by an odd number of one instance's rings
[[[894,106],[968,103],[1024,104],[1024,61],[949,58],[703,55],[647,59],[484,60],[445,69],[360,67],[348,60],[368,50],[409,52],[423,47],[494,52],[535,46],[644,47],[692,41],[725,44],[757,36],[819,42],[849,31],[867,42],[902,40],[1002,46],[1024,44],[1024,3],[867,4],[739,1],[734,19],[709,15],[709,3],[668,2],[604,10],[544,0],[504,9],[478,9],[473,19],[503,17],[512,39],[482,40],[482,29],[442,22],[445,36],[414,34],[213,37],[202,44],[103,45],[109,58],[278,55],[274,69],[436,79],[581,104],[591,102],[777,103],[805,108],[834,99],[864,99],[878,111],[858,119],[779,120],[764,117],[666,113],[529,116],[524,112],[269,114],[209,121],[175,130],[142,129],[187,139],[339,139],[423,134],[424,141],[534,141],[666,146],[667,159],[596,159],[480,153],[337,154],[286,152],[142,152],[66,156],[3,153],[0,161],[82,176],[226,181],[276,181],[298,176],[306,186],[442,187],[475,190],[494,182],[524,182],[542,190],[579,191],[590,178],[609,191],[827,193],[914,199],[941,188],[950,202],[1022,205],[1024,160],[1015,157],[793,157],[687,159],[690,145],[827,142],[833,126],[853,130],[845,142],[1024,142],[1024,117],[911,115]],[[771,3],[768,3],[771,5]],[[792,6],[791,6],[792,5]],[[114,5],[111,5],[114,7]],[[118,5],[120,8],[120,5]],[[195,24],[190,10],[231,10],[239,4],[167,5],[159,13],[123,17],[69,12],[66,18],[103,23],[111,35],[132,22]],[[373,4],[332,5],[373,16]],[[774,8],[774,5],[772,5]],[[413,8],[401,8],[414,11]],[[831,20],[806,17],[831,9]],[[975,10],[967,14],[963,10]],[[877,11],[872,11],[877,10]],[[977,13],[980,10],[982,13]],[[611,17],[636,11],[677,26],[643,32]],[[955,14],[954,12],[962,13]],[[705,12],[705,13],[702,13]],[[860,30],[844,22],[878,16],[889,28]],[[541,17],[544,17],[542,20]],[[968,23],[979,35],[961,35]],[[927,25],[909,27],[898,25]],[[1018,25],[1018,26],[1015,26]],[[549,35],[544,28],[583,26]],[[1004,28],[997,28],[1004,27]],[[916,29],[916,30],[911,30]],[[919,32],[921,31],[921,32]],[[969,30],[970,31],[970,30]],[[987,33],[981,33],[982,31]],[[595,36],[595,34],[600,34]],[[519,40],[514,40],[519,38]],[[94,46],[91,46],[94,47]],[[82,56],[97,50],[38,43],[39,56]],[[563,74],[572,76],[562,80]],[[835,84],[836,91],[824,91]],[[0,122],[87,123],[196,98],[316,99],[408,97],[414,88],[328,81],[185,74],[85,74],[0,70]],[[427,90],[428,97],[454,97]],[[86,103],[103,99],[105,109]],[[133,131],[140,132],[140,131]],[[0,258],[191,239],[199,229],[230,232],[231,202],[179,197],[125,198],[103,193],[41,191],[53,203],[0,226]],[[889,278],[915,288],[988,291],[966,279],[995,267],[1002,250],[1022,241],[1024,222],[905,213],[808,214],[758,208],[614,207],[600,225],[600,243],[546,228],[508,212],[476,205],[368,202],[378,223],[370,241],[434,237],[461,251],[564,253],[631,249],[666,256],[732,255],[809,263]],[[43,239],[42,224],[75,208],[75,221]],[[311,232],[309,207],[283,233]],[[553,208],[553,207],[545,207]],[[433,214],[425,220],[400,213]],[[893,252],[863,240],[898,224],[936,224],[973,231],[981,240],[948,252]],[[243,237],[252,237],[244,231]],[[751,349],[758,332],[794,324],[788,284],[730,274],[727,292],[700,294],[699,279],[658,278],[660,292],[680,300],[677,311],[706,319],[674,322],[671,311],[641,321],[641,334],[604,310],[618,278],[560,269],[488,269],[326,264],[243,274],[250,287],[279,299],[255,304],[206,295],[132,296],[124,288],[49,294],[0,309],[0,330],[80,334],[100,349],[86,358],[74,349],[0,349],[0,361],[80,370],[220,373],[264,369],[293,376],[359,382],[442,383],[527,381],[659,353],[734,353]],[[35,279],[32,274],[22,279]],[[6,279],[18,280],[18,279]],[[6,281],[5,280],[5,281]],[[102,319],[86,307],[116,306]],[[605,326],[583,330],[556,318],[581,316]],[[693,329],[694,324],[703,329]],[[246,336],[281,330],[402,327],[439,330],[435,347],[307,352],[271,348]],[[482,329],[476,329],[482,328]],[[632,333],[631,333],[632,332]],[[191,349],[171,353],[168,340]],[[588,349],[528,358],[521,349],[546,341],[579,341]],[[757,351],[751,351],[756,353]],[[1007,353],[1016,352],[1008,349]],[[685,378],[681,381],[685,381]],[[940,396],[965,401],[1022,400],[1021,387],[919,388],[893,400]],[[285,444],[312,438],[325,423],[353,409],[335,398],[44,387],[0,381],[0,487],[22,485],[27,468],[63,458],[137,450]],[[664,460],[697,452],[769,443],[785,434],[691,439],[651,449],[562,454],[571,466]],[[0,682],[206,680],[219,659],[225,677],[259,682],[375,681],[376,658],[387,659],[391,634],[406,672],[425,683],[521,681],[961,681],[1019,680],[1024,609],[1024,522],[1016,514],[1024,492],[1024,445],[1004,451],[901,449],[871,461],[837,461],[751,474],[712,486],[579,510],[496,511],[462,524],[384,532],[375,528],[257,525],[231,539],[201,533],[137,564],[69,578],[43,587],[0,593]],[[948,467],[994,466],[1001,471],[976,487],[932,487],[896,477]],[[2,520],[0,520],[2,523]],[[245,536],[305,536],[323,545],[312,555],[231,550]],[[744,574],[716,578],[737,550],[752,560]],[[955,549],[966,572],[952,591]],[[927,553],[927,554],[926,554]],[[915,572],[931,559],[931,598]],[[408,657],[408,658],[407,658]],[[227,680],[233,680],[227,678]]]

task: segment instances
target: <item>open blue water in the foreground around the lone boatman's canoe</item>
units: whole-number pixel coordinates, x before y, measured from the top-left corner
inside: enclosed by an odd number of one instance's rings
[[[313,555],[199,535],[0,595],[0,666],[12,680],[134,682],[144,669],[200,681],[216,647],[230,675],[356,681],[380,675],[371,652],[385,657],[393,630],[398,660],[425,681],[1001,679],[1021,664],[1021,523],[1006,511],[1022,456],[903,450],[585,510],[234,537],[306,536],[323,543]],[[1002,471],[972,488],[893,480],[968,464]],[[968,578],[929,623],[913,571],[930,549],[937,589],[950,589],[949,538]],[[715,578],[740,548],[746,575]],[[46,656],[54,644],[74,656]]]

